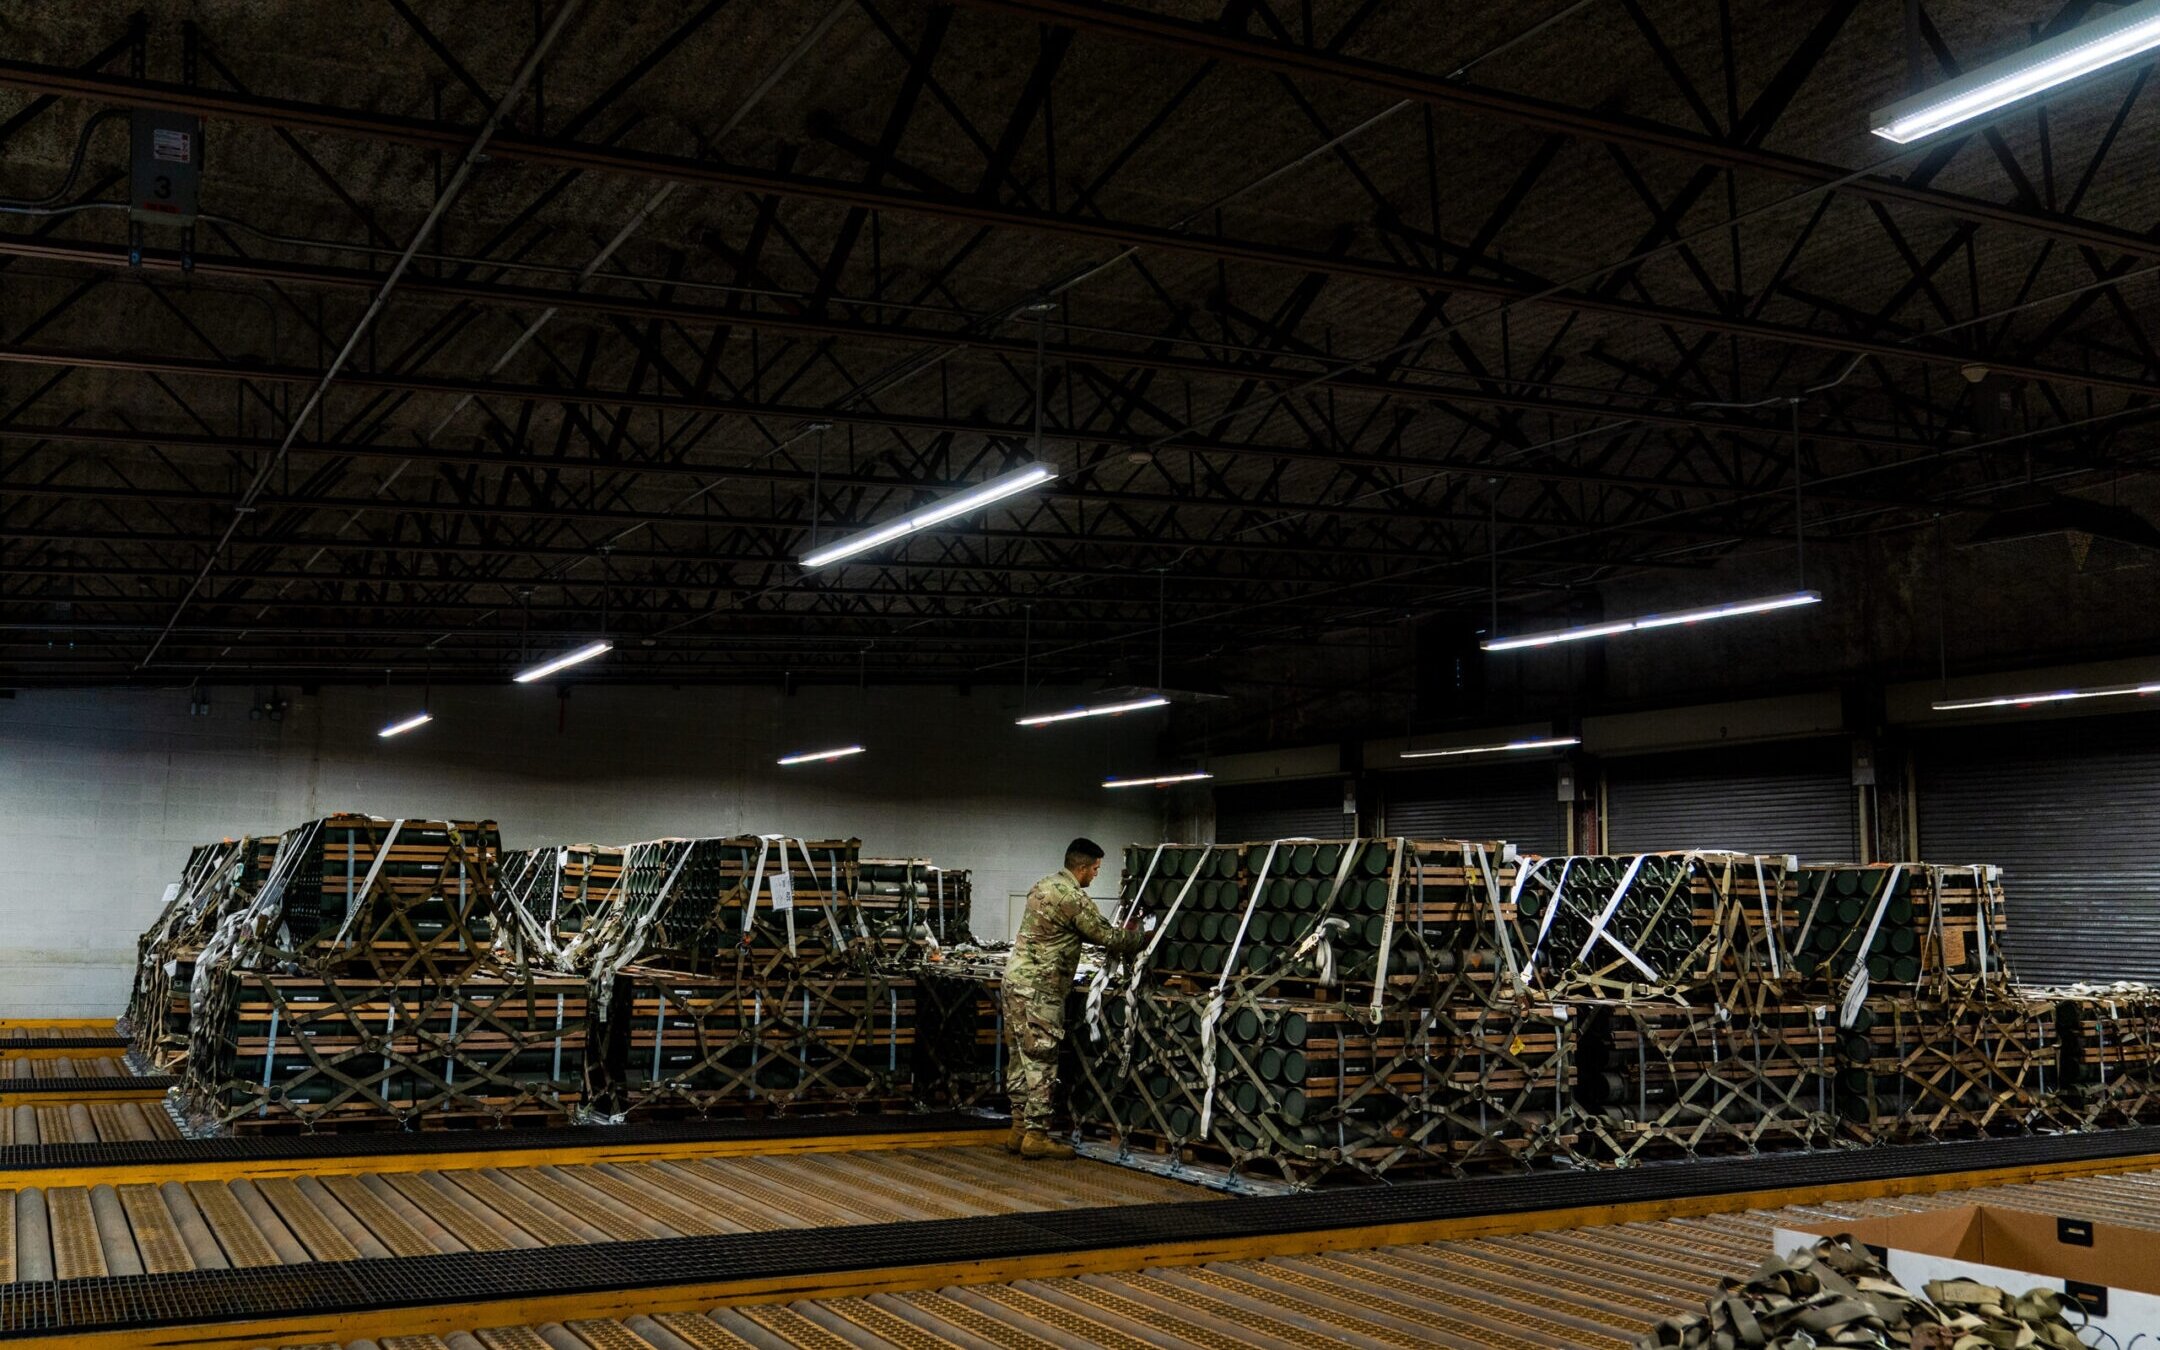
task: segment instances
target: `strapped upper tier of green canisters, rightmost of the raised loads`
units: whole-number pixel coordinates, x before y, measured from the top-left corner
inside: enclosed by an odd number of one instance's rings
[[[1788,946],[1795,970],[1830,987],[2009,989],[2002,879],[1994,866],[1836,862],[1799,868]]]

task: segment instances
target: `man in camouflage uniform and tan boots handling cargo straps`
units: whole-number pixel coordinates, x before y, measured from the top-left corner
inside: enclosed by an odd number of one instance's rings
[[[1102,845],[1076,838],[1065,847],[1065,870],[1028,892],[1013,955],[1004,959],[1004,1030],[1011,1067],[1004,1086],[1013,1097],[1013,1134],[1007,1149],[1022,1158],[1071,1158],[1069,1145],[1050,1138],[1050,1093],[1058,1082],[1058,1045],[1065,1043],[1065,996],[1074,987],[1080,944],[1112,957],[1140,950],[1143,933],[1112,929],[1086,883],[1102,870]]]

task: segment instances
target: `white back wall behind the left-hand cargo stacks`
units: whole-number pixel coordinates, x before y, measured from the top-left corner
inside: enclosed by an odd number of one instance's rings
[[[417,689],[22,691],[0,700],[0,1015],[119,1013],[134,940],[188,847],[335,810],[492,816],[505,847],[784,832],[858,836],[868,855],[974,870],[976,931],[1009,935],[1007,894],[1086,834],[1112,851],[1162,834],[1162,795],[1104,773],[1153,767],[1158,721],[1024,730],[1017,691],[436,689],[436,721],[382,741]],[[1030,708],[1071,691],[1037,689]],[[868,754],[780,769],[791,750]]]

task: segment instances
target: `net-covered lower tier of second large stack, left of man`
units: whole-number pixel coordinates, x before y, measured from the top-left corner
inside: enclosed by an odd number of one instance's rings
[[[916,985],[765,961],[741,976],[633,966],[594,1099],[620,1119],[907,1110]]]

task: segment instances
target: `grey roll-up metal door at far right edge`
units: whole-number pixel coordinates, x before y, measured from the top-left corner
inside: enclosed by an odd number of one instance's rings
[[[2002,864],[2022,978],[2160,981],[2160,717],[1970,726],[1916,758],[1920,858]]]

